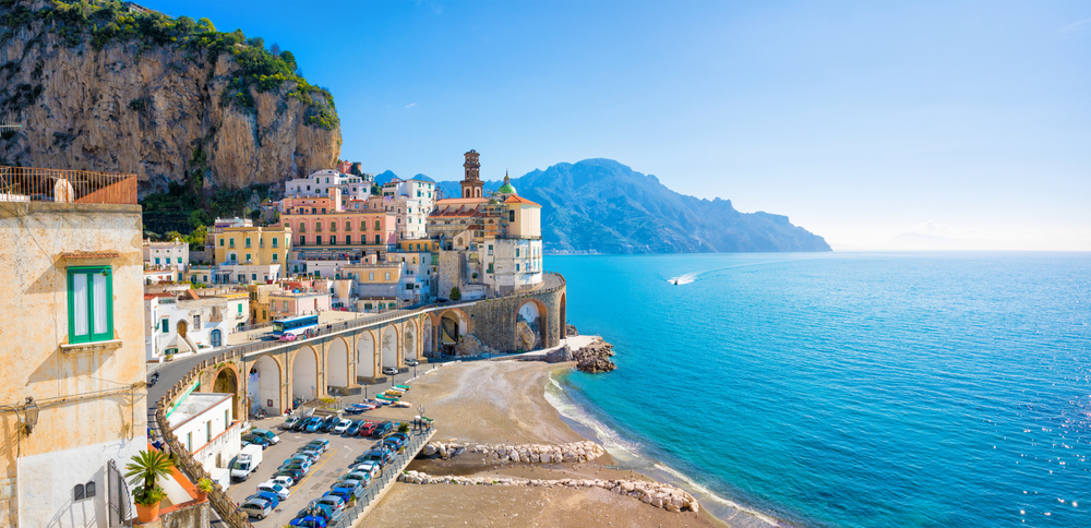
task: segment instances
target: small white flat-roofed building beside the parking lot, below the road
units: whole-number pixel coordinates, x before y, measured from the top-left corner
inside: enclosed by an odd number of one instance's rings
[[[228,469],[242,445],[242,422],[231,411],[233,398],[233,394],[194,392],[167,413],[179,442],[224,489],[230,485]]]

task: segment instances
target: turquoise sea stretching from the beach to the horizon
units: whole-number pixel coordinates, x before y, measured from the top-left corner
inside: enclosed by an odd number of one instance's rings
[[[718,517],[1091,527],[1089,253],[546,266],[568,321],[618,352],[614,372],[556,380],[562,412]]]

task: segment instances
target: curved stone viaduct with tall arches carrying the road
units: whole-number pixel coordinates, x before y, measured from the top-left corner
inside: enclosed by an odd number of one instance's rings
[[[382,381],[383,368],[405,368],[407,359],[427,362],[446,338],[472,335],[500,351],[556,346],[565,337],[564,278],[547,274],[542,287],[493,299],[398,310],[320,328],[316,337],[259,341],[203,361],[187,376],[199,392],[235,394],[233,413],[257,409],[280,415],[296,399],[356,394],[360,383]],[[524,326],[525,324],[525,326]],[[457,333],[457,335],[451,335]],[[189,387],[171,388],[171,400]]]

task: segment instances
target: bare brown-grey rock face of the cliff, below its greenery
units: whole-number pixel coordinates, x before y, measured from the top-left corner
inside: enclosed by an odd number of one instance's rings
[[[309,124],[313,105],[287,95],[296,83],[243,86],[252,106],[221,101],[238,84],[236,55],[120,38],[96,46],[91,31],[12,9],[0,5],[0,111],[23,128],[0,136],[2,164],[135,172],[143,195],[192,177],[205,188],[279,182],[337,161],[339,125]]]

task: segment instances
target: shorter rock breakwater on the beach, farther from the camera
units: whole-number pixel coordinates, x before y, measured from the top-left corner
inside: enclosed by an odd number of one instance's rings
[[[568,444],[459,444],[455,442],[430,442],[424,446],[424,456],[448,459],[464,453],[480,453],[494,461],[520,464],[584,463],[606,454],[606,449],[595,442],[572,442]]]

